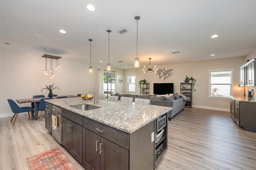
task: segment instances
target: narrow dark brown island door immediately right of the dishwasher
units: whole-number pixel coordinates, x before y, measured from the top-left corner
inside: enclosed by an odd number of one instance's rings
[[[68,132],[68,126],[70,125],[70,120],[61,116],[61,144],[69,151],[70,150],[70,134]]]

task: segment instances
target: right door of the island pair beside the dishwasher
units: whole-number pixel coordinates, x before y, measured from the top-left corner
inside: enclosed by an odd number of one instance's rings
[[[82,163],[83,127],[71,122],[68,132],[70,133],[70,153]]]

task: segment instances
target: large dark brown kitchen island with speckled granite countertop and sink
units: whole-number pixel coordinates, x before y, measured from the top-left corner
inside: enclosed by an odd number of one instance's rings
[[[74,108],[81,104],[94,108]],[[172,108],[108,99],[99,99],[96,105],[82,98],[46,100],[49,112],[54,107],[61,108],[61,144],[89,170],[154,169],[167,150],[166,114]],[[163,116],[166,126],[156,143],[156,119]],[[162,150],[155,156],[160,145]]]

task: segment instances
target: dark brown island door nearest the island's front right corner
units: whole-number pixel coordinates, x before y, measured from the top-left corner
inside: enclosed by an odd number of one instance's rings
[[[100,169],[128,170],[128,150],[100,138]]]

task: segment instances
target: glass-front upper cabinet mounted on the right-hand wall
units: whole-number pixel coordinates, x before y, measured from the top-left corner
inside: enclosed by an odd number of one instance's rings
[[[255,58],[240,67],[241,86],[256,86],[255,70]]]

